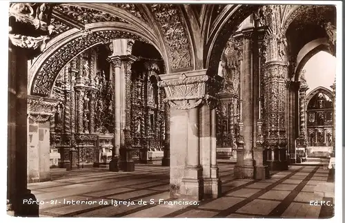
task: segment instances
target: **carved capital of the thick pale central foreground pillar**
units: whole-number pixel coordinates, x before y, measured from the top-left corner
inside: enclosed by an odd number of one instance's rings
[[[177,109],[193,109],[203,100],[213,105],[212,100],[217,100],[217,86],[221,85],[216,78],[206,75],[206,70],[161,74],[159,77],[158,85],[164,87],[167,94],[164,100]]]

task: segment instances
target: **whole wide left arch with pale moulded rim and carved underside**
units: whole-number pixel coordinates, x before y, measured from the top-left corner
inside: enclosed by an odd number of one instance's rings
[[[168,65],[168,59],[164,56],[166,52],[160,50],[153,31],[148,28],[140,30],[127,23],[101,22],[87,24],[86,30],[86,36],[77,29],[68,30],[48,43],[45,52],[30,68],[29,94],[50,96],[57,75],[68,62],[90,47],[110,43],[112,39],[135,39],[151,43]]]

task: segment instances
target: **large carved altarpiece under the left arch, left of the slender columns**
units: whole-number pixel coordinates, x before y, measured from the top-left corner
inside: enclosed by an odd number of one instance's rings
[[[107,53],[102,50],[82,52],[55,81],[52,98],[59,103],[50,118],[50,147],[61,154],[59,167],[99,167],[109,161],[103,154],[109,155],[111,147],[100,145],[113,138],[113,89],[108,62],[99,56]]]

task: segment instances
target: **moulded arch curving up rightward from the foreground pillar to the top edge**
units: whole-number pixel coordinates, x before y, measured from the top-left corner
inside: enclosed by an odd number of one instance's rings
[[[208,67],[210,76],[217,73],[221,53],[230,36],[239,24],[250,16],[260,5],[228,5],[215,19],[204,47],[204,67]]]

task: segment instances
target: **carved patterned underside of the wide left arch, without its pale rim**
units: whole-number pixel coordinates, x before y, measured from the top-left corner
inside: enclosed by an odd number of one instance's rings
[[[63,45],[43,63],[34,77],[31,94],[49,96],[55,78],[68,61],[92,45],[110,43],[113,39],[135,39],[147,42],[135,34],[119,30],[88,32],[85,36],[79,36]]]

